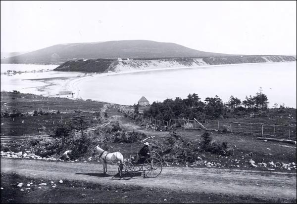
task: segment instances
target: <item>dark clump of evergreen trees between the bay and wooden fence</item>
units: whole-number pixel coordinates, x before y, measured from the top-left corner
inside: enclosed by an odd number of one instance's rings
[[[217,95],[201,101],[198,94],[193,93],[185,99],[176,97],[174,100],[166,99],[163,102],[153,102],[144,114],[147,117],[164,121],[176,118],[215,120],[265,110],[268,108],[268,103],[268,98],[262,89],[255,96],[246,96],[243,101],[231,95],[226,103]],[[138,111],[138,107],[136,109]]]

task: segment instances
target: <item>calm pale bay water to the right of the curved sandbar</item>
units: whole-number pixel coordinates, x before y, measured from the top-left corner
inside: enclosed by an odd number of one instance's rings
[[[247,64],[162,70],[94,77],[78,83],[80,96],[119,104],[134,104],[145,96],[150,102],[197,93],[203,100],[218,95],[245,99],[262,87],[270,105],[296,108],[296,62]]]

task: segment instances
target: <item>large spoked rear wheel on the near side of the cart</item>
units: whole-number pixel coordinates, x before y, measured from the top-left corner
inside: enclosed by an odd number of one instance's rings
[[[146,159],[143,164],[144,177],[155,178],[162,171],[162,162],[154,157]]]

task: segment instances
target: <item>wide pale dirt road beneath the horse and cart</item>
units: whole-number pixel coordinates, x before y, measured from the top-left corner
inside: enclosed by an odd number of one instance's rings
[[[112,178],[117,165],[108,165],[102,174],[100,163],[63,163],[1,159],[1,172],[44,179],[67,179],[101,185],[133,185],[197,193],[296,199],[296,173],[229,170],[214,168],[164,167],[157,178]]]

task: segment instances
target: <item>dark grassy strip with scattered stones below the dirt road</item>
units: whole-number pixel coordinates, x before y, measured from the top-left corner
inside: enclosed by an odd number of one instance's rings
[[[11,183],[13,181],[13,183]],[[33,185],[20,191],[16,185],[32,182]],[[47,186],[38,185],[47,183]],[[259,199],[251,196],[189,193],[161,188],[131,186],[102,186],[78,181],[54,181],[33,179],[17,174],[1,173],[1,203],[296,203],[292,199]],[[40,188],[38,188],[40,187]],[[25,189],[25,188],[24,188]]]

